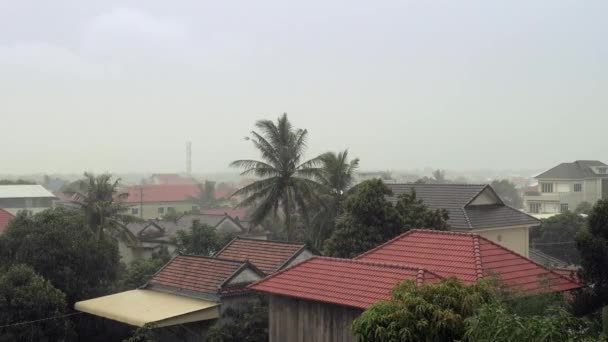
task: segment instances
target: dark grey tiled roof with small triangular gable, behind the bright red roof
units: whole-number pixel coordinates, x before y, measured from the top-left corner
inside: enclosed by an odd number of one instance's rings
[[[505,205],[488,184],[390,184],[393,195],[388,199],[395,203],[399,195],[416,192],[416,197],[432,209],[445,209],[452,229],[470,230],[518,225],[536,225],[536,218]],[[489,204],[476,204],[482,194],[493,199]]]

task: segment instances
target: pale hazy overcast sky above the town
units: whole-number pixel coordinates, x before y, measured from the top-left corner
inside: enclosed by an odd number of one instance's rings
[[[608,162],[608,1],[0,0],[0,173],[228,171],[287,113],[365,170]]]

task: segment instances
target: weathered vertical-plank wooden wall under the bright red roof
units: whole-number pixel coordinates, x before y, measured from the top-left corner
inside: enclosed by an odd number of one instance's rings
[[[270,342],[356,341],[350,326],[362,310],[271,295]]]

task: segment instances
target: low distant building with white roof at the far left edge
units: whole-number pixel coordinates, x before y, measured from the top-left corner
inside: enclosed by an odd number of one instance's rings
[[[49,209],[54,199],[42,185],[0,185],[0,208],[13,215],[20,210],[35,214]]]

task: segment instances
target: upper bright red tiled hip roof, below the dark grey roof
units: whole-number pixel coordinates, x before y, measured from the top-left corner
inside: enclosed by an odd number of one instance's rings
[[[455,276],[468,284],[495,276],[523,292],[581,287],[572,279],[471,233],[413,229],[356,259],[418,265],[441,277]]]

